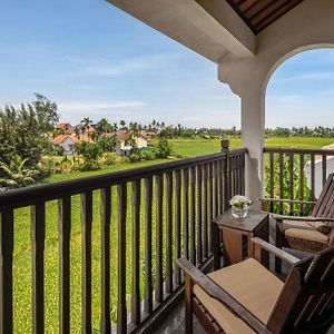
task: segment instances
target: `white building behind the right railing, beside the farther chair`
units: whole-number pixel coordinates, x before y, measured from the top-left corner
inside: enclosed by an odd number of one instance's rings
[[[334,173],[334,144],[323,146],[322,149],[324,150],[333,150],[333,156],[326,156],[326,178],[331,173]],[[312,167],[311,161],[308,161],[305,167],[304,171],[307,179],[307,187],[311,189],[312,183]],[[321,190],[323,188],[323,156],[317,155],[315,156],[314,160],[314,196],[317,198]]]

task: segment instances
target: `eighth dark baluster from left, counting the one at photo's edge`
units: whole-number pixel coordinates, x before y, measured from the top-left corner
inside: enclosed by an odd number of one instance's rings
[[[144,311],[153,311],[153,279],[151,279],[151,200],[153,178],[145,179],[145,296]]]

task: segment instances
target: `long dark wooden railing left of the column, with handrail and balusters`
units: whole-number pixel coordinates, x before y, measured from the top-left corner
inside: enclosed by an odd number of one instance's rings
[[[199,267],[210,261],[209,222],[228,207],[233,195],[244,194],[245,154],[245,149],[229,151],[223,143],[220,154],[0,194],[0,333],[12,333],[14,325],[17,209],[31,210],[27,224],[30,220],[32,277],[28,304],[32,332],[46,332],[46,216],[50,209],[47,205],[55,200],[58,213],[49,216],[58,216],[59,269],[53,275],[59,275],[59,332],[79,332],[80,327],[82,333],[92,332],[92,275],[100,275],[100,325],[95,330],[110,333],[117,326],[118,333],[134,332],[153,325],[153,318],[158,318],[174,296],[181,294],[183,276],[176,258],[185,256]],[[81,301],[76,303],[81,302],[80,324],[71,322],[70,298],[72,208],[77,199],[81,258],[75,261],[81,267]],[[96,199],[99,212],[94,205]],[[94,220],[100,226],[100,273],[92,273]],[[110,238],[110,229],[116,229],[117,239]],[[110,299],[115,286],[117,296]],[[117,316],[112,318],[115,304]]]

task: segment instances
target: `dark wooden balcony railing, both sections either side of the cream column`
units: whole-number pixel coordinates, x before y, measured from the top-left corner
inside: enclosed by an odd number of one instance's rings
[[[324,161],[333,151],[268,148],[265,154],[272,180],[267,208],[294,214],[297,206],[305,213],[314,197],[315,156]],[[229,151],[223,141],[215,155],[2,193],[2,333],[27,323],[21,307],[30,317],[27,330],[35,333],[151,332],[164,320],[166,326],[184,292],[175,259],[184,256],[200,269],[212,267],[210,220],[228,208],[232,196],[244,194],[246,156],[246,149]],[[312,198],[304,194],[285,204],[276,194],[285,194],[284,170],[292,181],[286,199],[295,198],[296,160],[311,161]],[[298,170],[304,185],[304,170]],[[325,167],[322,173],[325,179]],[[31,239],[28,233],[18,239],[18,228],[30,229]],[[80,244],[79,253],[73,243]],[[27,256],[31,271],[20,261]],[[50,273],[55,261],[58,271]],[[30,298],[18,298],[20,279],[30,282]],[[50,284],[59,285],[50,289]],[[51,291],[57,296],[48,295]],[[50,299],[58,311],[50,312]]]

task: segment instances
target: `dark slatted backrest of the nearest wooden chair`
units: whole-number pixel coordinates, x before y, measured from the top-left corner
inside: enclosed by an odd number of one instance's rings
[[[267,327],[273,333],[310,333],[334,316],[333,307],[334,247],[331,247],[293,266]]]

